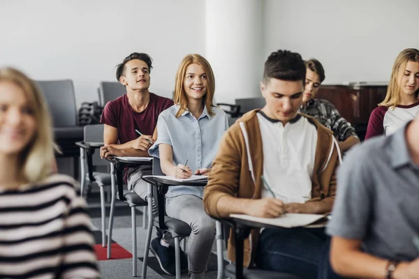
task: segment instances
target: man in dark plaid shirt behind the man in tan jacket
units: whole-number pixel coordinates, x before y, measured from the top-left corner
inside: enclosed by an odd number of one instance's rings
[[[318,88],[325,80],[325,70],[317,59],[310,59],[305,63],[307,73],[300,112],[314,117],[322,125],[332,130],[341,150],[348,151],[353,145],[360,142],[355,128],[339,114],[336,107],[328,100],[315,98]]]

